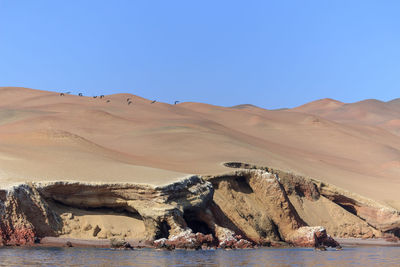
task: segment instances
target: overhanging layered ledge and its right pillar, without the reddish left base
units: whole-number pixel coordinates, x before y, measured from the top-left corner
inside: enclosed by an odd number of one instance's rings
[[[137,214],[146,227],[146,239],[167,238],[186,227],[185,210],[200,209],[212,200],[213,188],[198,176],[163,187],[132,184],[37,184],[46,199],[78,208],[123,209]]]

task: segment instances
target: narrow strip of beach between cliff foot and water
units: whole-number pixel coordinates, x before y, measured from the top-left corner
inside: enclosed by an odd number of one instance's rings
[[[378,246],[378,247],[400,247],[400,242],[390,242],[383,238],[362,239],[362,238],[335,238],[342,247],[359,247],[359,246]],[[140,248],[156,248],[151,241],[126,239],[133,249]],[[44,237],[40,243],[29,245],[30,247],[78,247],[78,248],[112,248],[109,239],[79,239],[64,237]],[[11,246],[12,247],[12,246]],[[254,247],[260,248],[260,247]],[[271,248],[279,248],[271,246]],[[288,248],[282,246],[282,248]],[[296,247],[290,247],[296,248]],[[212,248],[207,248],[212,249]]]

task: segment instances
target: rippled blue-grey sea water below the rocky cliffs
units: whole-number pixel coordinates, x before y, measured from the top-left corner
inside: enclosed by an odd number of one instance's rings
[[[400,266],[400,247],[133,251],[98,248],[0,248],[1,266]]]

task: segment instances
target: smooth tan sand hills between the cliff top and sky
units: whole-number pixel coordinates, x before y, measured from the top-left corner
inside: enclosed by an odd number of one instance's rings
[[[190,173],[225,172],[223,162],[241,161],[308,175],[400,208],[398,101],[353,107],[328,99],[269,111],[9,87],[0,88],[0,99],[2,185],[59,179],[165,184]]]

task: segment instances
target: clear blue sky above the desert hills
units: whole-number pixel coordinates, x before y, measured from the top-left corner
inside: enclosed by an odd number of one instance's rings
[[[400,97],[400,1],[0,0],[0,86],[293,107]]]

